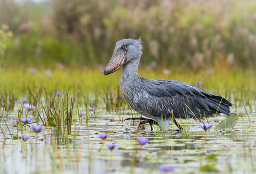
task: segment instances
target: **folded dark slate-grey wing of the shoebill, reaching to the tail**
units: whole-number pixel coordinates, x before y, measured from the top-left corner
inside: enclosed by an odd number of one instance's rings
[[[209,116],[216,113],[223,96],[211,94],[205,90],[191,84],[175,80],[147,79],[141,78],[144,96],[147,100],[142,101],[141,96],[137,107],[144,112],[154,115],[171,116],[177,118],[192,118]],[[145,94],[146,93],[146,94]],[[146,106],[143,105],[143,102]],[[223,97],[219,107],[219,112],[229,115],[229,106],[232,104]]]

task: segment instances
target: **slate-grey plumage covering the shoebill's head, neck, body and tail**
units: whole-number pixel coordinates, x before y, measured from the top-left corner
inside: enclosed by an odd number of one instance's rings
[[[157,121],[161,129],[168,129],[172,116],[185,119],[199,118],[201,115],[203,118],[204,115],[215,114],[217,109],[218,113],[230,114],[229,106],[232,104],[221,95],[211,94],[199,87],[176,80],[139,77],[141,40],[118,41],[115,51],[122,49],[124,45],[126,62],[120,80],[121,90],[135,111]],[[104,74],[108,74],[107,69],[108,67]]]

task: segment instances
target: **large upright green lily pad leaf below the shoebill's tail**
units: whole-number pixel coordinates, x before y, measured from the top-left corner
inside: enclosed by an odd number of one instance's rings
[[[223,119],[215,128],[216,131],[229,130],[232,131],[237,124],[238,116],[235,113],[230,114],[225,119]]]

